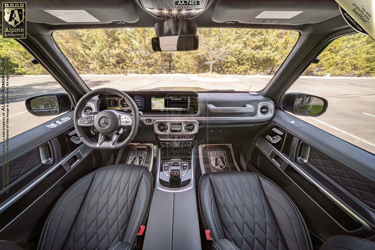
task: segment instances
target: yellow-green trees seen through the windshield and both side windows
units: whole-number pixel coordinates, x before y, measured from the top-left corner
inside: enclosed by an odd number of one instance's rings
[[[72,46],[69,35],[82,46]],[[189,52],[153,52],[153,28],[55,31],[54,39],[79,74],[205,73],[273,75],[299,34],[285,30],[199,28],[199,48]],[[71,38],[69,38],[71,39]],[[10,74],[46,74],[30,62],[16,40],[0,39],[0,55],[10,58]],[[375,43],[354,34],[333,41],[305,75],[375,76]]]

